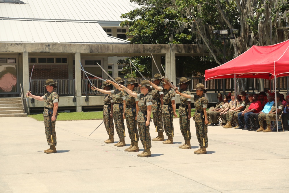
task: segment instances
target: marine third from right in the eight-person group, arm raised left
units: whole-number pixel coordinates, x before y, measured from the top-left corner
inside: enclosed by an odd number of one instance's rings
[[[163,88],[158,87],[149,81],[149,84],[153,88],[157,89],[164,93],[163,96],[163,106],[162,106],[162,117],[164,122],[164,131],[168,136],[166,141],[163,141],[163,144],[174,144],[173,135],[174,135],[174,125],[173,125],[173,115],[177,117],[176,113],[176,104],[175,104],[175,93],[172,90],[168,78],[165,78],[165,83],[163,83]]]

